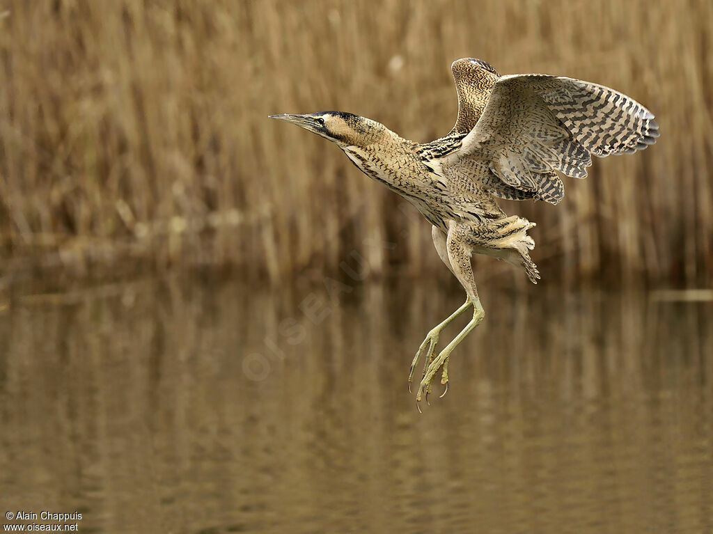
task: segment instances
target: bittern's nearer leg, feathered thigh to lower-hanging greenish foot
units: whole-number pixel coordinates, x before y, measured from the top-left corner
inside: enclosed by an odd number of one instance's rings
[[[473,277],[473,267],[471,266],[471,247],[472,229],[462,225],[459,226],[456,222],[451,221],[448,226],[448,235],[446,236],[445,252],[448,255],[448,264],[449,267],[451,267],[451,271],[453,271],[453,274],[455,274],[456,278],[458,278],[458,282],[461,282],[463,288],[466,289],[466,294],[468,295],[466,304],[473,305],[473,318],[470,322],[468,322],[468,324],[466,324],[466,327],[461,330],[453,341],[448,343],[446,348],[443,349],[438,356],[436,356],[436,358],[428,364],[426,373],[424,374],[423,379],[421,379],[419,391],[416,393],[416,402],[421,401],[421,396],[423,396],[424,392],[426,393],[426,399],[428,399],[429,391],[431,391],[431,383],[433,382],[434,376],[438,372],[438,369],[441,369],[441,367],[443,367],[441,384],[446,386],[448,385],[448,359],[451,356],[451,352],[461,341],[463,341],[471,330],[480,324],[483,317],[485,317],[485,311],[483,310],[481,301],[478,298],[478,289],[476,288],[476,281]],[[438,249],[438,247],[436,248]],[[441,251],[439,250],[439,254],[440,253]],[[463,306],[466,306],[466,304]],[[462,312],[461,309],[458,309],[458,311]],[[449,319],[451,319],[451,317],[449,317]]]

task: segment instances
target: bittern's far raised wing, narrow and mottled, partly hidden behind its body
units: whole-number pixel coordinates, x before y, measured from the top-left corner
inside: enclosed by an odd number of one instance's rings
[[[458,120],[449,135],[465,135],[481,117],[500,75],[489,63],[476,58],[453,61],[451,71],[458,91]]]

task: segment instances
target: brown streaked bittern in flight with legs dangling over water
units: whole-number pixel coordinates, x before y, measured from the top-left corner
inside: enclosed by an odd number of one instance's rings
[[[544,74],[500,76],[473,58],[458,59],[451,68],[458,119],[448,135],[431,143],[414,143],[342,111],[270,115],[334,141],[359,170],[416,206],[433,225],[441,260],[466,289],[466,302],[431,329],[414,356],[409,389],[426,354],[417,402],[424,391],[428,399],[438,371],[443,394],[448,391],[451,352],[485,316],[471,255],[521,266],[533,284],[540,278],[528,254],[535,242],[527,231],[535,223],[508,217],[496,197],[557,204],[564,188],[555,171],[585,178],[592,155],[634,153],[659,135],[644,106],[595,83]],[[436,356],[441,330],[470,307],[471,321]]]

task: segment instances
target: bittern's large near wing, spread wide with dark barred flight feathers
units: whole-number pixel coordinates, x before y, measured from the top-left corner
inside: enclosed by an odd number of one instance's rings
[[[591,155],[647,148],[659,136],[653,118],[632,98],[595,83],[541,74],[503,76],[453,156],[485,159],[505,185],[556,204],[563,188],[555,170],[585,178]]]

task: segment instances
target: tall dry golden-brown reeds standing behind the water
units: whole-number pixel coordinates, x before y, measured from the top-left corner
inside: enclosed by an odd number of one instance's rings
[[[661,125],[654,148],[568,179],[558,207],[506,203],[538,222],[545,279],[713,282],[708,1],[4,5],[5,274],[138,262],[279,280],[358,250],[373,274],[445,276],[414,210],[266,116],[343,109],[429,140],[455,118],[450,62],[477,56],[613,86]]]

